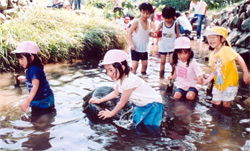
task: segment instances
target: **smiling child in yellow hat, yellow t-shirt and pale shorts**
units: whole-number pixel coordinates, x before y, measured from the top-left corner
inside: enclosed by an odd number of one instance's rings
[[[218,26],[205,32],[210,49],[213,51],[209,56],[209,65],[213,68],[213,72],[204,84],[214,79],[212,103],[223,104],[228,108],[238,91],[239,75],[235,60],[243,70],[243,80],[246,84],[250,83],[250,74],[242,57],[230,47],[230,43],[226,40],[227,35],[227,30]]]

